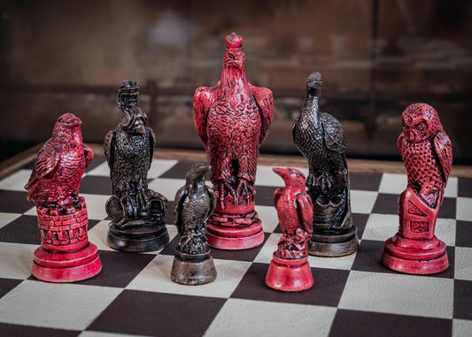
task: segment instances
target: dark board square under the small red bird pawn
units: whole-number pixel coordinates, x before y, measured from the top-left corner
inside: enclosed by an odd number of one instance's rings
[[[349,275],[349,271],[312,268],[312,288],[298,293],[284,293],[266,286],[267,269],[268,264],[251,264],[231,298],[336,307]]]

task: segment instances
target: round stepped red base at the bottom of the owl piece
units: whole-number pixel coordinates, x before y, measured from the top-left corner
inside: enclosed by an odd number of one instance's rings
[[[436,236],[423,241],[398,234],[385,241],[382,263],[397,272],[420,275],[443,272],[449,266],[445,242]]]

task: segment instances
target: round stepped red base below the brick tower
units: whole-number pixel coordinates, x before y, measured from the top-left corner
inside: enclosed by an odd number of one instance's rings
[[[51,252],[40,247],[35,250],[33,275],[48,282],[86,280],[102,270],[97,246],[90,243],[83,249],[64,253]]]

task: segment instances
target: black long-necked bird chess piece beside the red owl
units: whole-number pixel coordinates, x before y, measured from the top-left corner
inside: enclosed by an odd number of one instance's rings
[[[352,224],[349,173],[343,126],[318,111],[321,75],[306,80],[306,100],[293,124],[293,142],[308,161],[306,188],[313,201],[313,235],[308,253],[342,257],[357,251],[359,240]]]

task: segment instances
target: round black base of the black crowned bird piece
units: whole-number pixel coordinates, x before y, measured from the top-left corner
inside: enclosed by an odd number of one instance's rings
[[[146,224],[120,229],[113,223],[108,226],[106,237],[112,249],[128,252],[144,252],[162,249],[169,243],[166,224]]]

